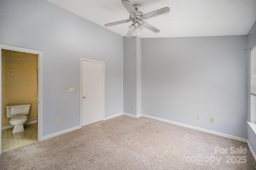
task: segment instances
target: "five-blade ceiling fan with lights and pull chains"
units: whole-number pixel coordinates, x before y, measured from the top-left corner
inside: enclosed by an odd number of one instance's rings
[[[153,18],[155,16],[160,16],[162,14],[166,14],[170,12],[170,8],[164,7],[159,10],[155,10],[147,14],[143,14],[142,12],[138,11],[140,9],[140,6],[139,5],[132,6],[129,0],[122,0],[122,4],[130,14],[129,19],[105,24],[105,27],[115,26],[115,25],[123,24],[127,22],[133,22],[132,25],[128,27],[129,30],[126,35],[126,37],[128,38],[131,37],[134,32],[140,32],[140,30],[143,30],[144,28],[147,28],[148,30],[154,33],[160,32],[160,30],[158,30],[156,27],[148,24],[147,22],[144,22],[143,20],[148,18]]]

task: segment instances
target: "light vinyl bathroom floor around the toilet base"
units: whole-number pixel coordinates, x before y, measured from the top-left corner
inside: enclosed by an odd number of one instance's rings
[[[24,131],[19,133],[12,133],[13,128],[2,130],[1,152],[37,142],[37,128],[37,123],[33,123],[24,125]]]

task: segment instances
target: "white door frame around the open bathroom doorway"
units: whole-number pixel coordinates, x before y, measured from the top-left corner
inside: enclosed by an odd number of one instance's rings
[[[43,135],[43,51],[0,44],[0,74],[1,74],[0,81],[1,83],[2,83],[2,49],[19,51],[24,53],[32,53],[32,54],[38,55],[38,85],[37,85],[37,88],[38,88],[38,113],[37,113],[38,114],[38,136],[37,138],[38,140],[42,140],[42,135]],[[2,86],[0,86],[0,91],[2,91]],[[0,106],[1,106],[2,93],[0,94],[1,94],[0,95]],[[2,133],[2,130],[1,130],[1,133]]]

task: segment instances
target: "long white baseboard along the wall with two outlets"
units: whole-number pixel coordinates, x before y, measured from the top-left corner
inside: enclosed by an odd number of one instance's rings
[[[194,127],[194,126],[191,126],[191,125],[186,125],[186,124],[183,124],[183,123],[169,121],[169,120],[161,119],[161,118],[158,118],[158,117],[153,117],[153,116],[148,116],[148,115],[143,115],[143,114],[141,116],[142,117],[151,118],[151,119],[156,119],[158,121],[163,121],[163,122],[166,122],[166,123],[171,123],[171,124],[174,124],[174,125],[179,125],[179,126],[182,126],[182,127],[192,128],[192,129],[195,129],[195,130],[199,130],[199,131],[210,133],[210,134],[215,134],[215,135],[218,135],[218,136],[222,136],[222,137],[238,140],[238,141],[241,141],[241,142],[247,142],[247,139],[245,139],[245,138],[240,138],[240,137],[237,137],[237,136],[232,136],[230,134],[224,134],[224,133],[221,133],[221,132],[216,132],[216,131],[208,130],[208,129],[205,129],[205,128]]]

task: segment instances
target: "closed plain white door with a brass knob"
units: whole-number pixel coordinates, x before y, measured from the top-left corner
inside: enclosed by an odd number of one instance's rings
[[[82,126],[103,120],[103,63],[82,60]]]

